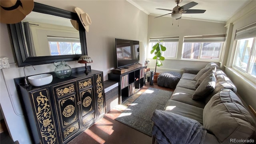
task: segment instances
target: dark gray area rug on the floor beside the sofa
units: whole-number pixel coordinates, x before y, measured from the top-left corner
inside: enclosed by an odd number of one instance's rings
[[[148,88],[128,108],[126,108],[117,121],[126,124],[148,136],[152,136],[152,121],[154,110],[163,110],[172,92],[156,88]]]

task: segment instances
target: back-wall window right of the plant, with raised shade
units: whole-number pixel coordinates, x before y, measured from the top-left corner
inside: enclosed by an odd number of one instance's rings
[[[225,35],[184,37],[182,58],[220,60]]]

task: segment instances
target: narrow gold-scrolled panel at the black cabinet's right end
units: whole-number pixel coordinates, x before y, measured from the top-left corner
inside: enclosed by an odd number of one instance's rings
[[[96,104],[98,117],[105,114],[105,95],[103,91],[103,77],[101,74],[96,74]]]

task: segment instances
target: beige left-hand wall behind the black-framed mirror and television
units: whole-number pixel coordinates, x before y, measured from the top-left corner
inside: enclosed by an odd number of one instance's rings
[[[148,15],[138,10],[125,0],[34,0],[64,10],[74,12],[80,7],[88,13],[92,20],[89,32],[86,32],[88,55],[91,56],[94,70],[101,70],[104,80],[108,73],[115,68],[115,38],[140,41],[140,61],[144,62],[144,48],[148,36]],[[14,78],[24,76],[23,67],[18,68],[13,52],[12,40],[6,24],[0,24],[0,57],[8,57],[11,67],[0,72],[0,104],[3,110],[10,135],[20,144],[30,144],[28,130],[22,114],[18,94],[14,85]],[[67,62],[72,68],[84,66],[77,61]],[[44,64],[26,68],[26,74],[40,74],[54,71],[53,64]]]

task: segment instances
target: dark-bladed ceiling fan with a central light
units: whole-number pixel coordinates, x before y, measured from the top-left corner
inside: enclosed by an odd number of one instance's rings
[[[180,19],[182,16],[182,13],[184,14],[202,14],[204,13],[206,10],[189,10],[189,8],[192,8],[193,6],[196,6],[198,3],[196,2],[190,2],[188,4],[185,4],[184,6],[179,6],[179,4],[182,2],[182,0],[175,0],[175,3],[177,4],[177,6],[175,6],[172,10],[169,9],[164,9],[164,8],[156,8],[157,10],[167,10],[167,11],[171,11],[171,13],[168,14],[172,14],[172,18],[176,18],[176,20]],[[165,16],[168,14],[164,14],[161,16]],[[159,18],[161,16],[157,16],[155,18]]]

